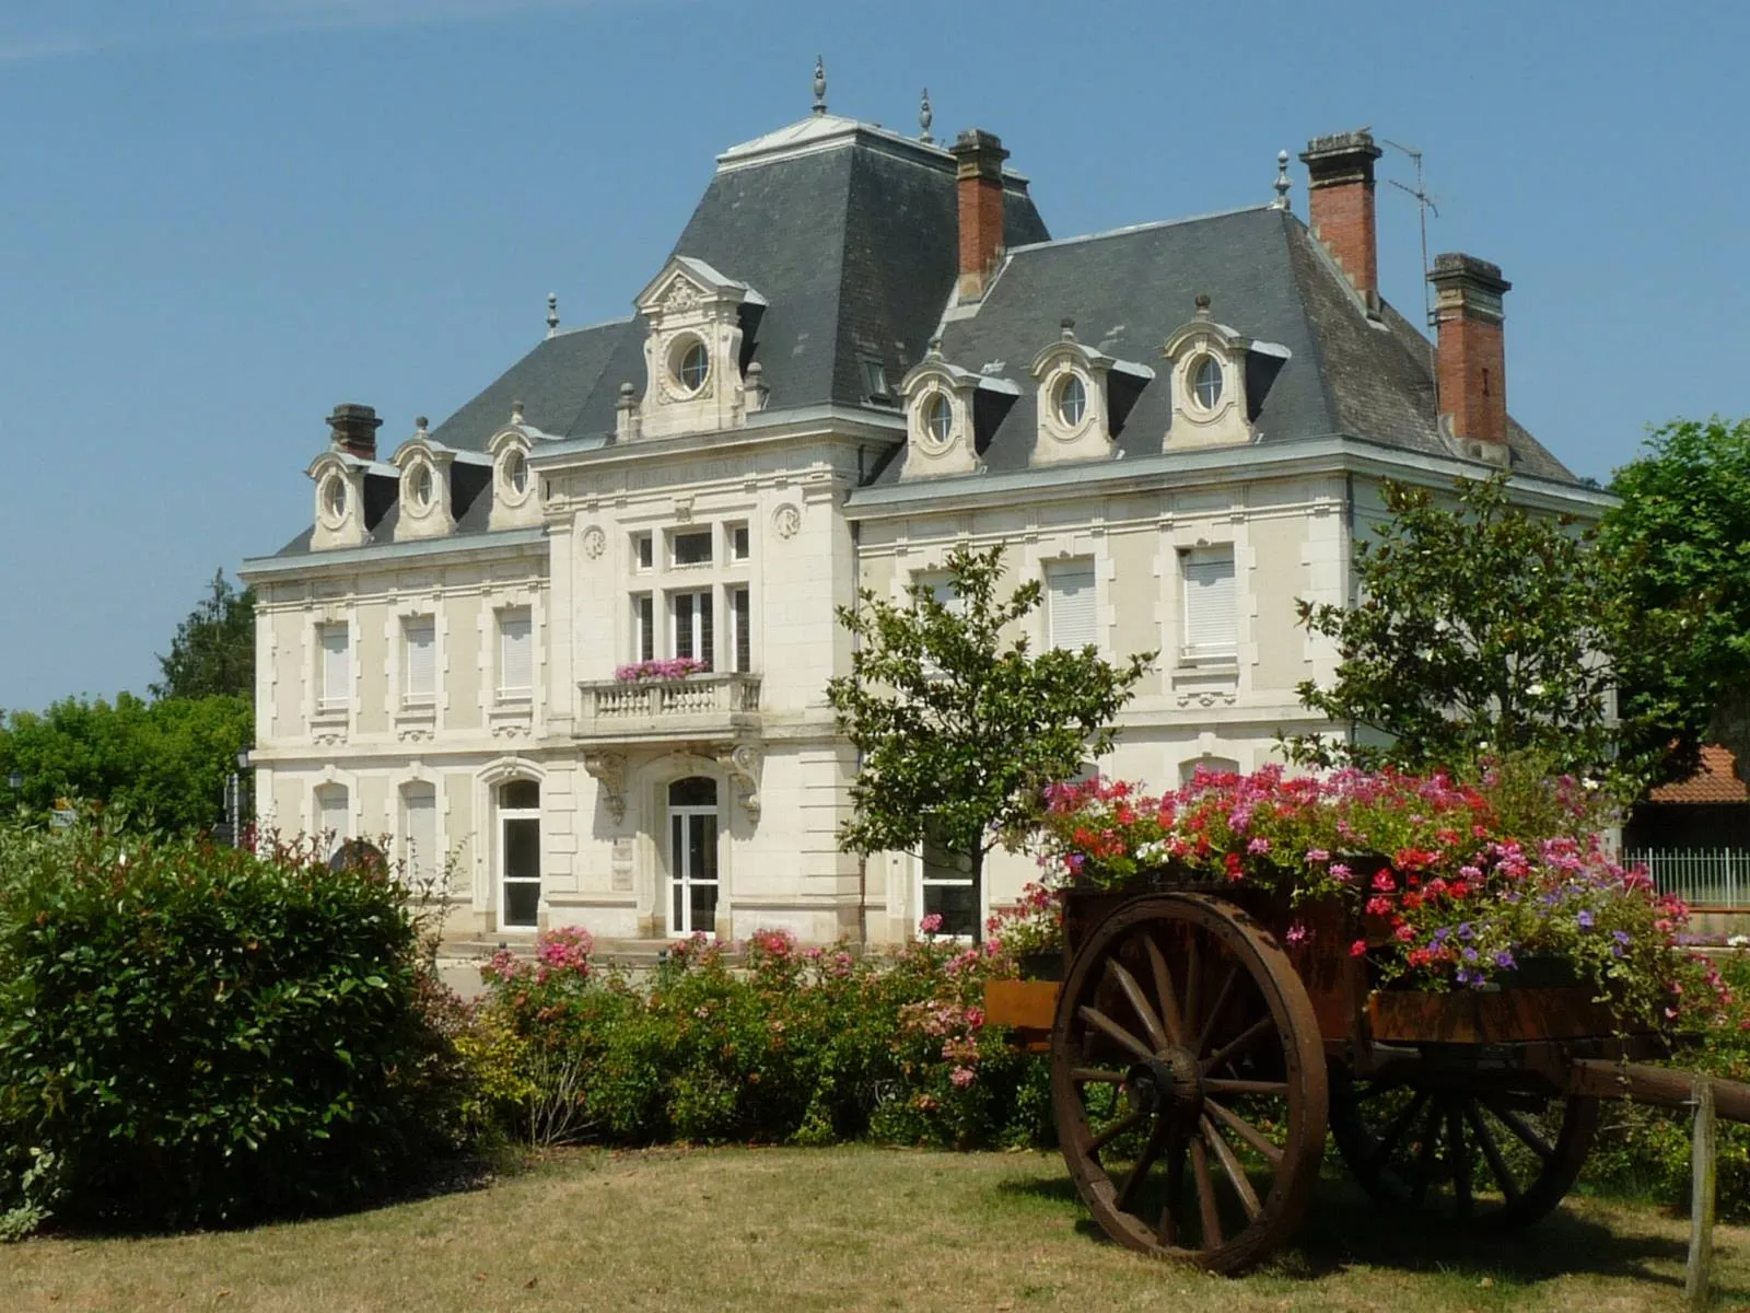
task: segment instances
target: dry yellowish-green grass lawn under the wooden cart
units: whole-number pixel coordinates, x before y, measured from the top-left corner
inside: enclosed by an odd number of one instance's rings
[[[1717,1306],[1750,1304],[1718,1227]],[[1300,1241],[1220,1280],[1104,1241],[1046,1154],[578,1152],[320,1222],[0,1250],[0,1309],[1675,1309],[1687,1224],[1572,1199],[1507,1238],[1381,1217],[1326,1180]]]

